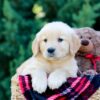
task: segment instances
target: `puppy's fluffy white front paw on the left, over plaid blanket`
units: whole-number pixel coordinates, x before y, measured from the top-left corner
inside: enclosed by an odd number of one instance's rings
[[[35,91],[37,91],[40,94],[45,92],[47,89],[47,79],[39,79],[34,77],[34,79],[32,79],[32,87]]]

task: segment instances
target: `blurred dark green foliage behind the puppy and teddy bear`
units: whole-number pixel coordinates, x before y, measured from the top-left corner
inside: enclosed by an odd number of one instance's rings
[[[0,100],[10,100],[10,79],[37,31],[57,20],[100,30],[100,0],[0,0]]]

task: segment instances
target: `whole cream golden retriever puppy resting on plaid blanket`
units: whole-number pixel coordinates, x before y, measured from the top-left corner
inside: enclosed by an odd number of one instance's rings
[[[22,75],[30,74],[33,89],[39,93],[59,88],[68,77],[76,77],[78,66],[74,58],[80,48],[75,31],[63,22],[46,24],[32,44],[34,56],[20,68]]]

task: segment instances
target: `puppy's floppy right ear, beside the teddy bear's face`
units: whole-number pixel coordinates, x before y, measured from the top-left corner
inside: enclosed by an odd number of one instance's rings
[[[80,38],[76,33],[72,34],[72,40],[70,41],[70,54],[75,55],[81,46]]]

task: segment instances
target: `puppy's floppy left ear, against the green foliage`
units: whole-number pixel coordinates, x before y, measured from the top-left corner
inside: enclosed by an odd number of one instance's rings
[[[33,40],[32,42],[32,52],[34,54],[34,56],[37,56],[37,54],[40,51],[40,41],[39,41],[39,35],[36,35],[36,38]]]

